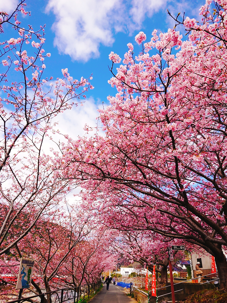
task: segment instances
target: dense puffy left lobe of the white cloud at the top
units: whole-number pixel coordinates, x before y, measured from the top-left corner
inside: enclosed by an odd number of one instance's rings
[[[49,0],[47,11],[56,16],[54,45],[73,59],[99,55],[99,45],[111,45],[110,17],[120,0]]]

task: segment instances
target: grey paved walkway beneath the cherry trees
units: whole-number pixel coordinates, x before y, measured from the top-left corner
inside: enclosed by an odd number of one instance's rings
[[[135,303],[133,298],[124,294],[124,289],[120,286],[110,284],[107,291],[106,284],[89,303]]]

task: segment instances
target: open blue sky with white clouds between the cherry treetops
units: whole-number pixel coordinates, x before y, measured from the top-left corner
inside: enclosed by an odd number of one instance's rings
[[[51,53],[45,59],[45,76],[61,77],[61,69],[68,68],[71,76],[80,79],[93,74],[94,89],[87,93],[86,104],[77,107],[59,118],[59,128],[72,137],[83,135],[83,125],[95,125],[97,108],[108,104],[107,96],[115,95],[114,88],[107,83],[111,78],[108,56],[111,51],[120,55],[127,51],[127,43],[134,45],[135,55],[140,46],[135,35],[143,31],[147,41],[156,28],[165,32],[174,25],[167,15],[186,12],[186,16],[199,19],[199,8],[205,1],[168,0],[28,0],[27,11],[31,16],[23,20],[25,27],[31,24],[34,30],[45,28],[45,51]],[[10,11],[17,0],[0,0],[0,10]],[[183,28],[179,28],[183,32]],[[12,36],[12,29],[5,28],[5,38]],[[17,38],[17,37],[14,37]],[[2,39],[4,40],[4,39]],[[117,65],[116,65],[117,67]]]

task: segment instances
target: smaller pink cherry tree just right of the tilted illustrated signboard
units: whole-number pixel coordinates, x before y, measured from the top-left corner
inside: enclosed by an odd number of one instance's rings
[[[79,251],[81,242],[86,240],[94,228],[89,213],[72,207],[70,212],[54,210],[48,218],[42,217],[35,228],[19,242],[20,257],[35,259],[34,275],[40,277],[39,284],[46,292],[50,292],[51,288],[66,287],[65,266],[71,259],[72,252]],[[41,293],[41,286],[34,281],[32,284]]]

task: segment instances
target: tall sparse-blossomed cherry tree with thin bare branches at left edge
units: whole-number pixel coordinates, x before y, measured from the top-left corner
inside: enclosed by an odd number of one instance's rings
[[[44,141],[52,119],[92,88],[87,79],[74,80],[67,68],[57,81],[44,76],[44,60],[51,55],[43,48],[44,28],[22,28],[18,13],[28,14],[24,0],[11,15],[0,12],[0,31],[5,23],[13,28],[0,52],[0,255],[9,253],[71,190],[70,180],[58,178],[61,163],[44,153]]]

